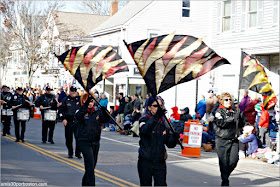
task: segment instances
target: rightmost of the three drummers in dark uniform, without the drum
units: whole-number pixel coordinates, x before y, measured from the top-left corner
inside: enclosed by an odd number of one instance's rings
[[[42,143],[47,142],[48,129],[49,129],[48,142],[54,144],[53,133],[54,133],[54,127],[56,121],[45,120],[45,112],[47,110],[56,111],[59,105],[58,101],[55,99],[55,96],[51,94],[51,91],[52,91],[51,88],[47,86],[45,89],[45,94],[41,95],[35,101],[35,106],[40,107],[41,114],[42,114]]]

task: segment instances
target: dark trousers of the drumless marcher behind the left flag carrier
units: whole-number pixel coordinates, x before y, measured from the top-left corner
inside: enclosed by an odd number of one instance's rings
[[[65,139],[66,139],[66,147],[68,149],[68,155],[73,155],[73,135],[76,139],[75,133],[74,133],[74,126],[71,125],[71,123],[68,123],[65,126]],[[76,150],[75,155],[81,154],[81,151],[79,150],[79,147],[77,145],[76,140]]]

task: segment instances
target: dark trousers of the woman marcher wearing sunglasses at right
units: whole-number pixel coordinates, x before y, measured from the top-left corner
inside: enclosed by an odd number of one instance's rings
[[[216,149],[219,157],[221,178],[223,183],[229,183],[229,176],[237,166],[238,157],[238,140],[225,140],[216,138]]]

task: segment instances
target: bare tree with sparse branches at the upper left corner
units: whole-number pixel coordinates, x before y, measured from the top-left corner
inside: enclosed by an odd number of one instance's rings
[[[47,2],[40,6],[36,1],[1,0],[0,11],[4,27],[1,28],[1,41],[7,40],[8,44],[1,45],[11,51],[12,48],[23,52],[20,67],[27,72],[28,84],[31,87],[33,74],[44,66],[53,52],[54,40],[48,39],[49,47],[41,50],[41,34],[48,26],[48,13],[59,7],[56,2]],[[3,38],[8,37],[8,38]]]

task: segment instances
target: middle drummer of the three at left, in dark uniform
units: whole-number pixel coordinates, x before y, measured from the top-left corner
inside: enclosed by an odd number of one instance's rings
[[[32,103],[31,102],[28,103],[28,98],[25,95],[23,95],[22,87],[18,87],[16,89],[16,93],[11,99],[11,105],[14,112],[16,142],[19,142],[19,140],[24,142],[26,120],[18,119],[17,114],[19,112],[19,109],[29,110]],[[21,134],[19,135],[20,124],[21,124]]]

